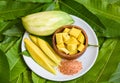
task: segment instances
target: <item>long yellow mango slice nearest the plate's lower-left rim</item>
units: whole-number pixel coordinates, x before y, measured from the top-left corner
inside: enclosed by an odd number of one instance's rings
[[[24,42],[25,47],[30,53],[31,57],[44,69],[53,74],[56,74],[56,71],[54,70],[54,68],[52,68],[52,66],[49,63],[50,59],[48,59],[48,57],[39,49],[39,47],[37,47],[32,41],[30,41],[27,38],[24,39]]]

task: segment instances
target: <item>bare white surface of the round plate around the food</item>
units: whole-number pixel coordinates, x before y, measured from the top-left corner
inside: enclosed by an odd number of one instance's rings
[[[93,44],[93,45],[98,45],[98,40],[97,40],[96,34],[92,30],[92,28],[82,19],[80,19],[76,16],[73,16],[73,15],[71,15],[71,16],[75,21],[74,25],[80,26],[87,33],[88,43]],[[28,38],[28,33],[24,34],[23,39],[26,37]],[[23,40],[22,40],[21,49],[22,49],[22,51],[26,50]],[[93,64],[96,61],[96,58],[98,55],[98,50],[99,50],[98,47],[93,47],[93,46],[89,46],[86,49],[85,53],[77,59],[78,61],[82,62],[83,69],[74,75],[63,75],[62,73],[59,72],[58,69],[56,69],[57,74],[53,75],[50,72],[43,69],[40,65],[38,65],[31,57],[23,56],[23,58],[25,60],[25,63],[28,65],[28,67],[33,72],[35,72],[37,75],[39,75],[45,79],[53,80],[53,81],[68,81],[68,80],[78,78],[78,77],[84,75],[88,70],[90,70],[90,68],[93,66]]]

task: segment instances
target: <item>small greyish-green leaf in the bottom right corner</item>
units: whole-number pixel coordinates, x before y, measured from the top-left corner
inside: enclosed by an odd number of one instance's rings
[[[109,82],[119,83],[120,82],[120,63],[116,69],[116,71],[111,75]]]

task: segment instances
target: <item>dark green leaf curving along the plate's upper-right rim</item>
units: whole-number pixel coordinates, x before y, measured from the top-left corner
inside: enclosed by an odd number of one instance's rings
[[[105,30],[104,25],[97,16],[88,11],[82,4],[73,0],[60,0],[59,5],[60,10],[82,18],[91,25],[98,36],[102,36]]]

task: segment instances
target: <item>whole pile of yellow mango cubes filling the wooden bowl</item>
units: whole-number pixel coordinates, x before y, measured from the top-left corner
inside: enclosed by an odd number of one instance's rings
[[[56,43],[60,51],[73,55],[84,49],[85,37],[80,29],[65,28],[56,34]]]

